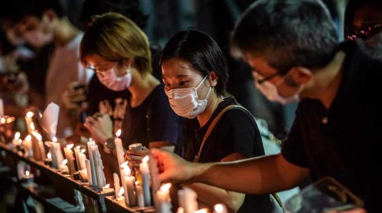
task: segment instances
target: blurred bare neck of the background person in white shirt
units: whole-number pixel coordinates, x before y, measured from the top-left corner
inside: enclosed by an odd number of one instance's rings
[[[57,19],[54,27],[54,43],[56,46],[64,46],[80,33],[81,30],[75,27],[66,16]]]

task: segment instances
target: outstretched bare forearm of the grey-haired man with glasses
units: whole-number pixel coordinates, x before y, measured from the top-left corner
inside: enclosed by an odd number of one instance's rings
[[[235,162],[195,164],[190,180],[245,194],[268,194],[295,187],[309,175],[307,169],[290,163],[285,165],[283,161],[285,159],[279,154]]]

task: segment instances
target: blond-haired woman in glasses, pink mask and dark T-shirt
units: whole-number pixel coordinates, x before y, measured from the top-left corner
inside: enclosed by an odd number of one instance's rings
[[[80,60],[83,66],[96,72],[108,89],[129,91],[128,100],[122,106],[126,109],[121,135],[125,149],[134,143],[149,148],[174,147],[180,137],[180,119],[168,104],[163,84],[152,75],[149,41],[133,21],[114,12],[95,16],[81,41]],[[104,147],[105,157],[116,155],[115,132],[108,114],[89,116],[84,126]],[[139,152],[143,156],[145,153]],[[133,157],[135,161],[141,159]],[[119,171],[118,163],[105,161],[114,171]]]

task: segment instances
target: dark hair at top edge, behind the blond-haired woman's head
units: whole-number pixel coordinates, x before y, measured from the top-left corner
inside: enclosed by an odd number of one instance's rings
[[[108,12],[117,12],[126,16],[141,29],[147,25],[147,15],[140,10],[139,0],[85,0],[79,22],[87,25],[92,21],[92,16]]]

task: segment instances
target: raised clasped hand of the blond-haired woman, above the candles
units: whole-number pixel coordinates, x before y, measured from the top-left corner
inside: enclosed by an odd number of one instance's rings
[[[105,144],[106,139],[113,137],[113,122],[108,114],[97,112],[88,116],[84,126],[98,143]]]

